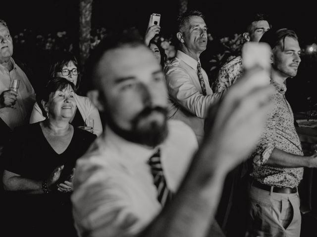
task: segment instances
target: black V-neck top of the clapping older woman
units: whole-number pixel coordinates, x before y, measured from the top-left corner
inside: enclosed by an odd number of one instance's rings
[[[70,144],[63,153],[57,154],[46,140],[39,122],[17,127],[12,132],[9,145],[4,148],[4,169],[23,178],[43,181],[56,167],[64,164],[63,171],[67,171],[67,177],[76,160],[84,155],[95,138],[96,135],[74,127]],[[67,233],[65,236],[75,236],[70,195],[70,192],[58,191],[37,195],[6,192],[7,227],[10,224],[15,227],[20,225],[24,236],[53,236],[63,229],[64,234]],[[20,231],[12,227],[8,230],[10,234]]]

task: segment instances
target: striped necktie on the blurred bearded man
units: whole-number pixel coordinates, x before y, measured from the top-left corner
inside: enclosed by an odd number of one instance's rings
[[[151,166],[151,173],[154,179],[154,185],[158,190],[158,200],[162,206],[164,206],[172,198],[172,192],[169,191],[166,180],[163,174],[162,164],[160,162],[160,150],[149,159],[149,165]]]

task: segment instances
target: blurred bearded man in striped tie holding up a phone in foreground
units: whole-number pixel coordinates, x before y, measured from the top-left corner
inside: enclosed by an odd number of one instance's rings
[[[272,88],[253,83],[261,70],[223,99],[197,152],[193,131],[166,118],[164,74],[143,42],[109,36],[90,62],[98,89],[89,95],[107,121],[76,165],[72,203],[80,235],[206,236],[227,171],[251,151],[266,121]],[[216,226],[211,233],[222,236]]]

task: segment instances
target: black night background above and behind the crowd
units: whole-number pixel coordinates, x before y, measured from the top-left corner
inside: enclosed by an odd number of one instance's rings
[[[79,22],[78,2],[3,1],[0,19],[7,22],[11,35],[18,34],[23,29],[32,29],[35,34],[66,31],[71,40],[76,41]],[[178,8],[178,0],[94,0],[92,28],[105,27],[107,30],[116,30],[135,26],[144,34],[150,14],[156,12],[161,14],[162,34],[172,36],[177,29]],[[314,1],[301,0],[292,3],[290,0],[189,0],[188,8],[198,9],[205,14],[209,33],[215,40],[242,33],[250,14],[263,12],[269,15],[273,28],[295,30],[303,48],[317,42],[317,8]],[[207,50],[205,55],[210,53],[212,52]],[[204,53],[202,56],[204,57]],[[307,54],[302,58],[298,76],[287,80],[288,100],[295,111],[306,109],[307,97],[317,97],[316,64],[316,53]],[[315,100],[317,102],[317,98]]]

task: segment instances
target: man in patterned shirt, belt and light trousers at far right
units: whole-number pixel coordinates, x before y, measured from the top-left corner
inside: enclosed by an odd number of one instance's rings
[[[297,187],[303,167],[317,167],[317,155],[303,157],[292,109],[285,99],[287,78],[295,77],[301,48],[294,31],[270,30],[260,42],[272,48],[271,84],[274,107],[253,154],[250,187],[250,236],[299,237],[300,199]]]

